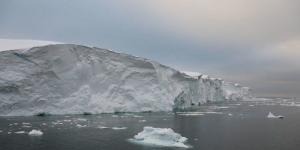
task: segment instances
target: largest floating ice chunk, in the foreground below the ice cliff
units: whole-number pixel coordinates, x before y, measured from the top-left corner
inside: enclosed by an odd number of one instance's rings
[[[185,144],[187,140],[186,137],[181,136],[170,128],[153,128],[147,126],[129,141],[150,146],[189,148],[190,146]]]

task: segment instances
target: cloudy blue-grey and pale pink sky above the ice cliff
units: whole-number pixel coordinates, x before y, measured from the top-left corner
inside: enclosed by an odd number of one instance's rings
[[[0,38],[107,48],[300,97],[299,0],[1,0]]]

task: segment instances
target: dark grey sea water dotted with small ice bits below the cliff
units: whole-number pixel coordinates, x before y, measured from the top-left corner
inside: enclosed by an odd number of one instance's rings
[[[199,111],[210,113],[199,116],[140,113],[0,117],[0,150],[182,149],[149,147],[127,141],[142,131],[144,126],[172,128],[188,138],[193,150],[300,149],[300,106],[297,103],[274,100],[218,106],[203,106]],[[269,119],[266,117],[269,111],[285,118]],[[101,128],[103,126],[109,128]],[[32,129],[40,129],[44,134],[40,137],[29,136],[28,132]],[[25,133],[17,134],[17,131]]]

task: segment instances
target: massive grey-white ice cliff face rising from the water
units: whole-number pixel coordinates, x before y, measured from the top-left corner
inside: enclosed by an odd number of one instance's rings
[[[171,111],[243,99],[246,88],[147,59],[60,44],[0,52],[0,115]]]

